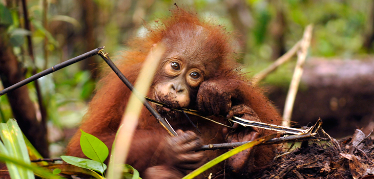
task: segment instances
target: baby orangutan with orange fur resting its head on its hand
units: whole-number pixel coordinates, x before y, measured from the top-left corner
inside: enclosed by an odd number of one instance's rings
[[[233,116],[280,125],[278,111],[262,94],[261,88],[253,85],[241,72],[232,47],[233,37],[223,27],[202,21],[195,13],[178,7],[172,10],[170,17],[160,19],[156,24],[157,27],[145,25],[147,35],[132,40],[129,44],[131,50],[124,52],[118,64],[121,72],[134,83],[153,44],[162,43],[165,46],[166,51],[148,97],[171,108],[196,109],[204,116],[211,116],[211,119],[226,125],[230,124],[224,117]],[[113,72],[103,77],[100,84],[80,128],[98,137],[111,149],[131,91]],[[196,133],[197,129],[185,114],[165,107],[154,107],[168,119],[179,136],[170,137],[143,108],[127,163],[137,169],[144,179],[181,178],[189,170],[227,151],[195,152],[202,145],[250,141],[274,132],[237,124],[229,129],[189,116],[201,131]],[[67,155],[85,157],[79,146],[79,138],[80,131],[68,145]],[[275,151],[275,146],[247,149],[205,171],[198,178],[206,178],[210,173],[213,173],[212,178],[247,178],[248,173],[271,161]]]

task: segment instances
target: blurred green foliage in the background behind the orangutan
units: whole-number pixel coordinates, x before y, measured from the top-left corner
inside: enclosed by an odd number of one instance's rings
[[[0,1],[2,3],[2,1]],[[277,49],[290,49],[308,24],[314,24],[313,40],[309,56],[353,58],[373,52],[372,46],[364,46],[373,33],[374,2],[369,0],[94,0],[92,26],[93,41],[86,38],[88,21],[82,0],[48,1],[48,26],[43,27],[43,6],[40,0],[29,0],[28,9],[33,26],[32,32],[22,29],[23,16],[20,8],[9,8],[13,22],[9,27],[14,52],[30,71],[36,66],[44,70],[44,39],[48,39],[48,65],[52,66],[87,52],[87,44],[106,46],[106,52],[116,56],[126,50],[126,41],[144,32],[143,20],[152,23],[157,17],[169,14],[177,3],[179,7],[195,9],[202,17],[223,25],[238,36],[240,62],[246,66],[249,76],[264,69],[279,57]],[[235,4],[237,3],[237,4]],[[88,7],[88,6],[87,6]],[[5,12],[5,11],[2,11]],[[8,12],[8,11],[7,11]],[[9,16],[9,13],[6,15]],[[239,22],[239,23],[235,23]],[[9,23],[8,23],[9,24]],[[239,25],[238,25],[239,24]],[[242,25],[242,26],[240,26]],[[25,54],[25,35],[32,33],[36,62]],[[244,39],[244,41],[243,41]],[[371,43],[371,42],[370,42]],[[370,44],[369,43],[369,44]],[[275,57],[274,57],[275,56]],[[96,58],[96,63],[101,63]],[[99,65],[95,68],[100,69]],[[58,128],[71,128],[79,124],[92,97],[97,78],[91,71],[82,70],[82,62],[68,66],[40,79],[44,103],[50,121]],[[266,81],[288,86],[294,63],[281,66]],[[28,85],[35,105],[37,98],[33,85]],[[11,118],[6,98],[0,98],[0,117]],[[51,141],[58,142],[58,141]]]

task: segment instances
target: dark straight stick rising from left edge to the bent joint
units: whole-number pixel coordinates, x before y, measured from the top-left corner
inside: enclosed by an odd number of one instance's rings
[[[99,47],[99,48],[97,48],[95,50],[92,50],[90,52],[84,53],[84,54],[79,55],[79,56],[77,56],[75,58],[72,58],[70,60],[66,60],[66,61],[64,61],[62,63],[56,64],[56,65],[52,66],[52,68],[49,68],[49,69],[47,69],[45,71],[42,71],[42,72],[40,72],[38,74],[35,74],[35,75],[33,75],[33,76],[25,79],[25,80],[22,80],[22,81],[20,81],[18,83],[15,83],[15,84],[13,84],[13,85],[11,85],[11,86],[3,89],[3,91],[0,92],[0,96],[3,96],[5,94],[13,91],[14,89],[17,89],[17,88],[19,88],[19,87],[21,87],[23,85],[26,85],[26,84],[28,84],[28,83],[30,83],[32,81],[35,81],[35,80],[37,80],[37,79],[39,79],[41,77],[44,77],[44,76],[46,76],[46,75],[48,75],[50,73],[53,73],[53,72],[55,72],[57,70],[65,68],[66,66],[69,66],[69,65],[71,65],[73,63],[76,63],[76,62],[84,60],[84,59],[86,59],[88,57],[97,55],[103,49],[104,49],[104,47]]]

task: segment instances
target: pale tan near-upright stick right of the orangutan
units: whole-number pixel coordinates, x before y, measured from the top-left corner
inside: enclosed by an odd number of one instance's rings
[[[308,52],[312,29],[313,29],[312,25],[308,25],[305,28],[303,39],[301,40],[301,43],[300,43],[300,50],[297,53],[298,58],[297,58],[296,66],[295,66],[295,72],[294,72],[294,76],[292,77],[291,84],[289,85],[289,90],[288,90],[286,103],[284,105],[284,111],[283,111],[282,125],[285,127],[290,126],[292,110],[294,107],[296,93],[299,88],[301,75],[303,74],[303,71],[304,71],[303,65],[304,65],[305,58]]]

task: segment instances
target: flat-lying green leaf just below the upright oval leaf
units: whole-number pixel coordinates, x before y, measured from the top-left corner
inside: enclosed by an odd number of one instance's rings
[[[90,159],[82,159],[82,158],[78,158],[75,156],[67,156],[67,155],[61,156],[61,159],[63,159],[68,164],[81,167],[81,168],[91,169],[91,170],[100,172],[101,174],[103,174],[104,171],[107,169],[107,165],[97,162],[97,161],[90,160]]]

